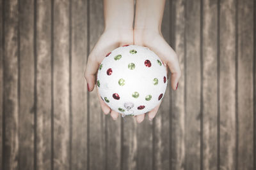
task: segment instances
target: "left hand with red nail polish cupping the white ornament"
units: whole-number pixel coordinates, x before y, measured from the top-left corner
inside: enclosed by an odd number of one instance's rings
[[[114,50],[115,48],[123,45],[133,44],[133,30],[124,28],[109,28],[106,29],[100,36],[99,41],[93,47],[92,52],[88,57],[86,70],[84,77],[87,81],[88,91],[92,92],[95,86],[96,74],[100,65],[100,62],[106,57],[106,54]],[[98,98],[102,111],[108,115],[109,112],[113,120],[118,118],[119,113],[111,110],[109,106],[102,101],[99,91],[97,90]]]

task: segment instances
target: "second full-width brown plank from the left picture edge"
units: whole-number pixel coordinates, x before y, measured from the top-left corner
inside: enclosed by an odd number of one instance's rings
[[[20,31],[20,107],[19,168],[33,169],[34,155],[34,4],[19,4]]]

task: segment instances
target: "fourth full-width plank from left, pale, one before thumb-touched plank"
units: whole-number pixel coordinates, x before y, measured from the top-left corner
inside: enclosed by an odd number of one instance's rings
[[[69,1],[54,1],[54,169],[70,167]]]

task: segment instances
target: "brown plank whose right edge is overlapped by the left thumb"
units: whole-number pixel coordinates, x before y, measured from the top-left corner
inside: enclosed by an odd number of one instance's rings
[[[72,1],[72,164],[71,169],[87,165],[87,93],[84,66],[87,53],[86,1]]]

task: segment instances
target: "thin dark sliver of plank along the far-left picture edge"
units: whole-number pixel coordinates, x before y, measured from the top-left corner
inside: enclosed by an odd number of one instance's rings
[[[0,11],[2,11],[2,15],[0,17],[0,143],[2,146],[0,146],[0,167],[3,168],[3,1],[0,1]]]

